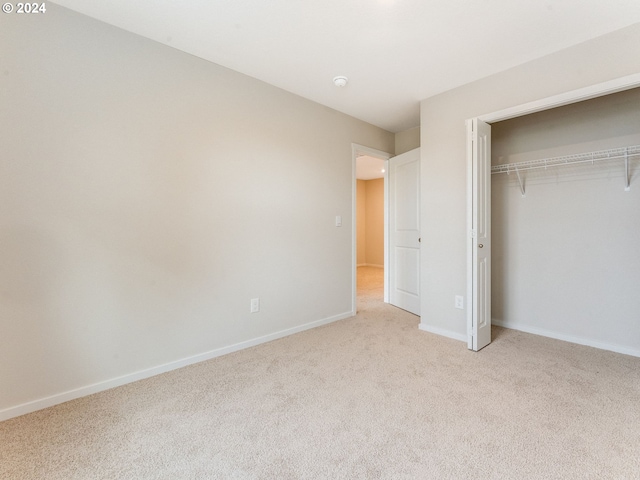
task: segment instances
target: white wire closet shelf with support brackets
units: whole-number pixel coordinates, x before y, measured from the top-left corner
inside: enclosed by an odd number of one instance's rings
[[[613,148],[610,150],[600,150],[597,152],[580,153],[576,155],[565,155],[562,157],[541,158],[538,160],[528,160],[524,162],[505,163],[502,165],[493,165],[491,167],[491,174],[506,173],[510,174],[515,172],[520,182],[520,189],[524,196],[524,185],[520,178],[520,172],[525,170],[533,170],[536,168],[550,168],[560,167],[564,165],[574,165],[578,163],[596,163],[602,160],[615,160],[624,159],[626,169],[626,186],[625,190],[629,190],[630,176],[629,176],[629,157],[640,156],[640,145],[633,145],[630,147]]]

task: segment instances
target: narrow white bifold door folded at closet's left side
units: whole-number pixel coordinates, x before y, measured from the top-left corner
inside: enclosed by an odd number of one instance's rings
[[[491,125],[467,122],[469,239],[467,249],[468,347],[491,343]]]

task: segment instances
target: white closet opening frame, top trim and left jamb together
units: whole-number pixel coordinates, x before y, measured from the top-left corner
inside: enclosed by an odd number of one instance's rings
[[[511,118],[521,117],[524,115],[529,115],[531,113],[541,112],[544,110],[550,110],[556,107],[562,107],[564,105],[569,105],[572,103],[578,103],[585,100],[590,100],[592,98],[602,97],[604,95],[610,95],[612,93],[622,92],[624,90],[630,90],[632,88],[640,87],[640,73],[627,75],[624,77],[616,78],[613,80],[609,80],[602,83],[597,83],[595,85],[590,85],[588,87],[579,88],[576,90],[571,90],[569,92],[564,92],[558,95],[553,95],[551,97],[542,98],[540,100],[535,100],[533,102],[527,102],[520,105],[515,105],[513,107],[505,108],[503,110],[498,110],[495,112],[486,113],[484,115],[479,115],[477,117],[470,118],[466,120],[467,129],[470,128],[471,122],[474,118],[481,120],[485,123],[491,124],[494,122],[500,122],[503,120],[509,120]],[[469,138],[469,131],[467,130],[467,139]],[[472,151],[469,147],[467,147],[467,165],[471,165],[470,156],[472,155]],[[469,168],[469,167],[467,167]],[[491,168],[491,167],[489,167]],[[469,172],[467,171],[467,175]],[[469,176],[467,178],[470,178]],[[489,172],[489,181],[491,181],[491,175]],[[473,208],[473,204],[471,202],[472,194],[475,189],[478,188],[478,185],[474,185],[471,181],[467,182],[467,219],[470,218],[471,209]],[[468,227],[470,229],[471,227]],[[471,235],[471,231],[467,231],[467,235]],[[473,276],[473,245],[472,242],[467,243],[467,306],[473,305],[474,299],[473,291],[474,291],[474,276]],[[490,280],[489,280],[490,281]],[[477,291],[477,290],[475,290]],[[472,318],[473,312],[469,310],[467,315],[467,330],[469,325],[477,319]]]

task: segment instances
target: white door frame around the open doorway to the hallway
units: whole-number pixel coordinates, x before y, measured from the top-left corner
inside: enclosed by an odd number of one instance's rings
[[[357,222],[357,200],[358,200],[358,179],[356,178],[356,162],[358,155],[368,155],[370,157],[384,160],[384,301],[389,302],[389,245],[387,235],[389,233],[389,159],[394,155],[375,148],[365,147],[357,143],[351,144],[351,313],[357,312],[357,277],[358,277],[358,222]]]

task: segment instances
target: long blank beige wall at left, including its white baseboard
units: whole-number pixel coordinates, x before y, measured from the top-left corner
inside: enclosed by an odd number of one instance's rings
[[[0,16],[0,419],[352,314],[352,142],[393,134],[35,17]]]

